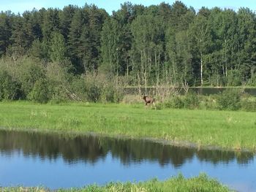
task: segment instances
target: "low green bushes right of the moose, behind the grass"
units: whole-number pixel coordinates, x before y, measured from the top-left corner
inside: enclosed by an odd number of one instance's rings
[[[194,92],[170,96],[159,107],[186,108],[201,110],[245,110],[256,112],[256,98],[243,93],[241,89],[228,88],[227,90],[210,96],[197,95]]]

